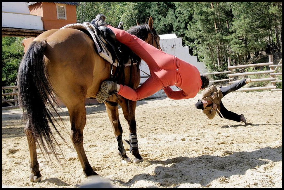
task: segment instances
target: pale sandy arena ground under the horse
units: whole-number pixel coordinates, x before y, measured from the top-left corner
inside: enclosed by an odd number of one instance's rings
[[[233,92],[228,110],[247,124],[218,115],[209,120],[195,108],[200,97],[137,102],[136,123],[142,163],[121,163],[104,104],[86,106],[84,149],[100,178],[86,178],[69,133],[66,108],[60,112],[63,166],[37,149],[42,181],[29,180],[30,156],[20,110],[2,110],[2,188],[282,188],[282,91]],[[124,139],[128,129],[120,108]],[[128,156],[133,159],[133,156]],[[108,186],[104,186],[108,187]]]

